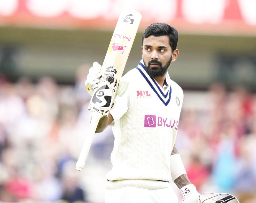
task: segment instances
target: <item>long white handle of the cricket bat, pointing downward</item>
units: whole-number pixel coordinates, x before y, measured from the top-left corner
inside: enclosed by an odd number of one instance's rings
[[[80,152],[79,158],[76,162],[76,170],[78,171],[82,171],[82,169],[84,168],[85,160],[87,158],[90,147],[92,145],[92,139],[94,137],[95,130],[98,126],[98,123],[101,117],[102,117],[101,113],[92,112],[92,120],[88,129],[87,135],[85,137],[84,144]]]

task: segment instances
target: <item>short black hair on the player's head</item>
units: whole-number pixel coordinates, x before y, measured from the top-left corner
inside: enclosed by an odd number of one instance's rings
[[[151,25],[149,25],[145,29],[142,35],[142,45],[143,45],[144,39],[151,35],[155,37],[164,36],[164,35],[169,36],[169,43],[170,43],[170,46],[172,47],[172,51],[176,49],[179,34],[178,34],[178,31],[171,25],[168,25],[166,23],[152,23]]]

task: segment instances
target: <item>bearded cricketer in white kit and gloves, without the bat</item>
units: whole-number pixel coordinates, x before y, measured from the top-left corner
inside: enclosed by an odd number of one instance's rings
[[[149,25],[142,36],[142,60],[125,74],[108,117],[96,132],[113,126],[113,168],[107,173],[106,203],[177,203],[174,181],[183,203],[198,203],[199,193],[190,183],[175,147],[183,91],[167,72],[178,57],[177,30],[165,23]],[[85,82],[98,86],[101,66],[94,62]],[[125,93],[118,95],[118,91]]]

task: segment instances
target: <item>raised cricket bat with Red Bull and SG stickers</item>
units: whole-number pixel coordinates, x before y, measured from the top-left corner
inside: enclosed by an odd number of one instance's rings
[[[108,46],[107,54],[102,64],[102,76],[99,86],[94,90],[88,107],[88,110],[92,112],[92,120],[79,158],[76,162],[76,170],[82,171],[84,168],[85,160],[100,118],[109,115],[119,80],[123,74],[126,61],[140,25],[141,17],[141,14],[135,10],[123,10],[120,13]]]

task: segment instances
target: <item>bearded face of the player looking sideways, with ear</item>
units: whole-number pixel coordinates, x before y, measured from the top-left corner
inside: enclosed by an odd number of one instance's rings
[[[172,61],[178,57],[179,51],[172,52],[169,36],[145,38],[142,46],[142,59],[147,73],[152,77],[164,76]]]

